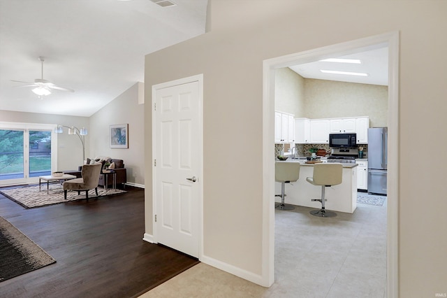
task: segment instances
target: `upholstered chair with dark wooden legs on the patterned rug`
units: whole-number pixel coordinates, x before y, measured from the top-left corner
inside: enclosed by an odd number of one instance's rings
[[[82,166],[82,178],[66,180],[64,182],[64,199],[67,199],[68,190],[77,190],[78,194],[85,191],[85,197],[89,199],[89,190],[95,189],[98,195],[98,181],[102,164],[85,164]]]

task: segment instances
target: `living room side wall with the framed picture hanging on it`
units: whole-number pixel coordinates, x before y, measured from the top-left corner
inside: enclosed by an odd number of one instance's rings
[[[138,104],[138,83],[90,117],[90,155],[123,159],[127,182],[144,187],[144,104]],[[149,105],[150,106],[150,105]],[[110,125],[129,124],[129,148],[110,148]]]

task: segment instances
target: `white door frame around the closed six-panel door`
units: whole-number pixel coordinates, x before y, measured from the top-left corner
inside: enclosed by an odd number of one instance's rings
[[[166,83],[160,83],[157,85],[152,85],[152,243],[158,243],[157,241],[157,232],[156,232],[156,222],[155,222],[155,214],[156,214],[156,167],[154,166],[154,158],[156,152],[156,111],[155,111],[155,103],[156,103],[156,91],[159,89],[173,87],[182,84],[188,84],[192,82],[198,82],[198,108],[199,108],[199,119],[198,119],[198,127],[199,131],[197,132],[199,135],[199,166],[198,166],[198,178],[201,183],[198,187],[198,259],[200,260],[203,257],[203,73],[198,74],[196,76],[190,76],[187,78],[180,78],[178,80],[171,80]]]

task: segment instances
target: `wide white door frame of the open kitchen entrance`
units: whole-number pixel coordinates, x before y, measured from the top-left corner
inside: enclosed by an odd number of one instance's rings
[[[339,43],[323,48],[276,57],[263,62],[263,283],[274,283],[274,71],[330,55],[348,55],[379,43],[388,43],[388,215],[387,297],[399,297],[398,272],[398,166],[399,166],[399,32]]]

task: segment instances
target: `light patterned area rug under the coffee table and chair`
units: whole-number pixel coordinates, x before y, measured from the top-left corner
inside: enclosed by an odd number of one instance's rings
[[[112,194],[121,194],[126,192],[125,190],[104,190],[98,187],[98,196],[104,197]],[[40,206],[47,206],[53,204],[66,203],[67,201],[75,201],[80,199],[85,199],[85,192],[69,191],[67,193],[67,199],[64,199],[64,190],[62,185],[59,183],[50,184],[50,190],[47,194],[47,185],[42,185],[41,190],[39,190],[38,185],[27,186],[27,187],[17,187],[10,189],[0,190],[0,193],[5,197],[12,199],[16,203],[24,206],[25,208],[35,208]],[[95,199],[95,190],[89,190],[89,199]]]

